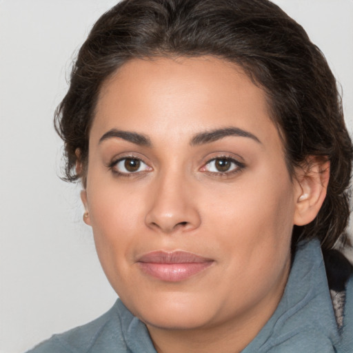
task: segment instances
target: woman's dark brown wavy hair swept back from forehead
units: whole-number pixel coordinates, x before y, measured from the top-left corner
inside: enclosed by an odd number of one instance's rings
[[[291,173],[311,155],[330,161],[323,206],[312,223],[294,226],[294,243],[318,237],[328,250],[340,236],[347,241],[352,142],[336,80],[303,28],[267,0],[125,0],[103,14],[79,50],[70,89],[56,112],[65,179],[85,183],[94,108],[113,72],[133,58],[201,55],[241,65],[265,90]]]

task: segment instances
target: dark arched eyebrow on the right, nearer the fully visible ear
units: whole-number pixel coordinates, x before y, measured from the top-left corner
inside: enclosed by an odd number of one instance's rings
[[[230,127],[230,128],[222,128],[222,129],[205,131],[205,132],[196,134],[192,138],[190,145],[193,145],[193,146],[203,145],[204,143],[214,142],[219,139],[223,139],[223,137],[228,137],[228,136],[248,137],[250,139],[253,139],[257,143],[261,143],[261,141],[251,132],[248,132],[239,128]]]

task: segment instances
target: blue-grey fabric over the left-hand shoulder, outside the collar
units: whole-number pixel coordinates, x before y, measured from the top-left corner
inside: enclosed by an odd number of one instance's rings
[[[123,339],[119,301],[98,319],[63,334],[55,334],[27,353],[130,352]]]

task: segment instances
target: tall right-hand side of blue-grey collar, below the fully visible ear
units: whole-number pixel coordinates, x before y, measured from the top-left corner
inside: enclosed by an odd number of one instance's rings
[[[320,243],[302,242],[279,305],[243,353],[334,353],[339,341]]]

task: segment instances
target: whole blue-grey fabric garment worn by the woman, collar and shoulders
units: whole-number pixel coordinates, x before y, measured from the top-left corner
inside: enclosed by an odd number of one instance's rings
[[[52,336],[28,353],[156,353],[147,327],[118,299],[103,316]],[[300,243],[283,297],[241,353],[352,353],[353,278],[343,327],[337,327],[320,243]]]

